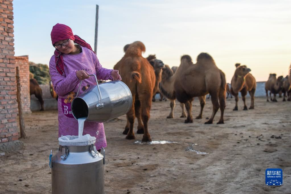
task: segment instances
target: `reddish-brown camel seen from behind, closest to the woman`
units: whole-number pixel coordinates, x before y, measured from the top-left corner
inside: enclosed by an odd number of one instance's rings
[[[133,42],[114,69],[119,71],[122,81],[132,93],[132,107],[127,113],[130,124],[129,128],[125,127],[123,134],[127,133],[126,139],[135,139],[134,119],[135,115],[141,114],[143,126],[138,126],[138,132],[144,133],[142,141],[152,141],[148,132],[148,120],[155,87],[155,72],[148,60],[142,57],[142,52],[145,52],[145,45],[140,41]]]

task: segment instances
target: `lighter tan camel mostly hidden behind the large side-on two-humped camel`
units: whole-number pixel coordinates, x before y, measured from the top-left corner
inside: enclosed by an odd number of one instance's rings
[[[163,72],[162,72],[162,81],[161,81],[161,88],[162,88],[162,92],[164,92],[165,96],[168,96],[169,93],[174,94],[173,96],[170,96],[170,107],[171,107],[171,112],[169,114],[169,116],[167,116],[167,118],[174,118],[174,108],[176,106],[175,104],[175,92],[174,92],[174,88],[172,87],[172,85],[167,84],[167,82],[169,82],[171,80],[171,77],[175,74],[174,71],[177,70],[177,68],[175,68],[176,66],[174,66],[174,68],[172,67],[170,69],[170,67],[168,65],[165,65]],[[174,71],[173,71],[174,69]],[[199,101],[200,101],[200,114],[196,117],[196,119],[201,119],[202,118],[202,112],[203,112],[203,108],[205,105],[205,97],[206,96],[199,96]],[[192,102],[192,101],[191,101]],[[185,118],[186,117],[186,113],[184,110],[184,103],[180,103],[180,107],[182,108],[182,115],[180,116],[180,118]]]

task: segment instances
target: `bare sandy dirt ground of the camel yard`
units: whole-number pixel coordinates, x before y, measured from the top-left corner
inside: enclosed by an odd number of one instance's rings
[[[178,143],[135,143],[141,134],[136,140],[125,139],[125,116],[105,123],[106,193],[291,193],[291,102],[281,100],[256,98],[255,109],[243,111],[240,99],[239,111],[234,112],[234,98],[227,99],[222,125],[204,125],[212,112],[210,100],[203,119],[188,124],[180,118],[179,105],[174,118],[166,119],[169,101],[153,103],[152,140]],[[197,116],[198,99],[193,106]],[[217,112],[215,123],[219,116]],[[20,139],[25,149],[0,157],[0,193],[51,193],[48,157],[58,148],[57,111],[26,115],[25,125],[28,138]],[[191,146],[206,153],[187,151]],[[283,169],[282,186],[265,185],[266,168]]]

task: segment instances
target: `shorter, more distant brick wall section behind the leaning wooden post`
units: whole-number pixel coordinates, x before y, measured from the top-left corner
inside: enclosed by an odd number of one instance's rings
[[[20,85],[21,85],[21,101],[22,101],[23,112],[31,113],[28,55],[19,56],[19,57],[15,56],[15,66],[19,67]]]

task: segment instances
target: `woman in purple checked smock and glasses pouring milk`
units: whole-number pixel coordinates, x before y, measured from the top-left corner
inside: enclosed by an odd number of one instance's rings
[[[81,80],[82,94],[98,80],[121,80],[118,70],[105,69],[99,63],[91,46],[64,24],[56,24],[51,32],[52,45],[56,48],[49,61],[49,73],[56,94],[58,94],[58,137],[78,135],[78,121],[71,112],[71,102],[77,94]],[[103,123],[85,122],[83,135],[96,137],[96,149],[107,146]]]

